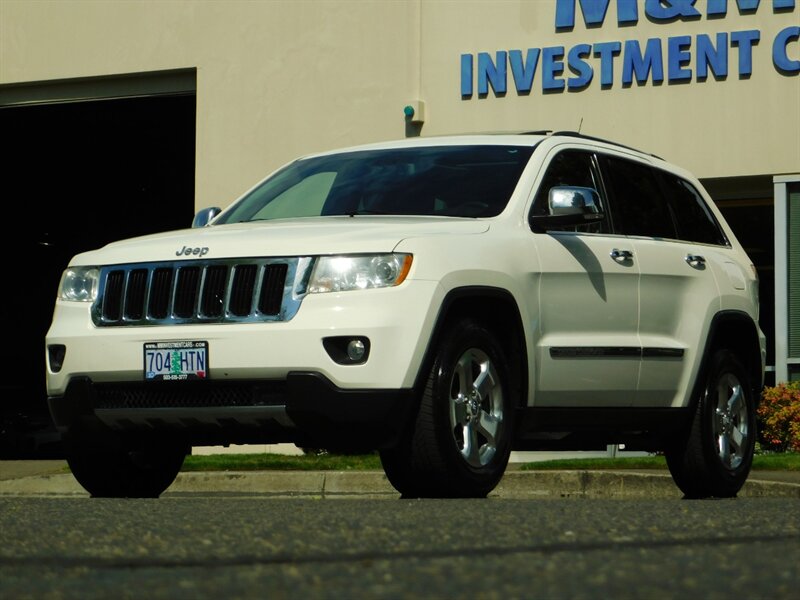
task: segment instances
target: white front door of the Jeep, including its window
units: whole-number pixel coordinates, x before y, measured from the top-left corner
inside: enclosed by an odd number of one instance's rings
[[[545,214],[556,186],[603,189],[594,154],[554,150],[533,202]],[[609,407],[633,402],[639,370],[638,278],[630,240],[596,224],[534,233],[540,257],[537,407]]]

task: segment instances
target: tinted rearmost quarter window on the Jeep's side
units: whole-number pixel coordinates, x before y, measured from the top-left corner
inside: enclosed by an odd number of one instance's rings
[[[675,214],[678,238],[699,244],[726,246],[728,240],[694,186],[672,173],[660,172],[667,202]]]

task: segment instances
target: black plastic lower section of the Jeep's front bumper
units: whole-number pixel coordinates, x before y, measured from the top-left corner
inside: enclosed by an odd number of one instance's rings
[[[95,383],[75,377],[48,398],[70,435],[157,434],[190,445],[294,442],[375,449],[397,443],[416,411],[411,389],[343,390],[319,373],[285,380]]]

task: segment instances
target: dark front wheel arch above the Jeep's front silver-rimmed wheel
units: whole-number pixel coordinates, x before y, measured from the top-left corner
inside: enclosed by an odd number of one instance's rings
[[[522,316],[511,292],[491,286],[466,286],[447,293],[439,308],[414,388],[421,390],[424,387],[436,348],[447,327],[465,317],[475,319],[497,336],[506,353],[515,406],[524,406],[528,390],[528,349]]]

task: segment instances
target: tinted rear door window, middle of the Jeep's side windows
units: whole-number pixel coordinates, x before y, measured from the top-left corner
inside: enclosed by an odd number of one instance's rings
[[[676,237],[672,214],[653,169],[612,156],[601,156],[600,164],[611,198],[611,214],[617,233]]]

